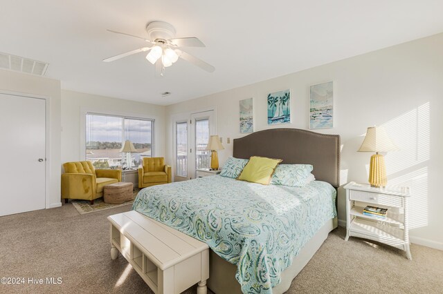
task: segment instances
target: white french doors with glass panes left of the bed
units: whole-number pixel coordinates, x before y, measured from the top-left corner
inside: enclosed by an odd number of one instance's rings
[[[195,179],[197,168],[210,167],[210,150],[205,150],[209,136],[215,135],[214,110],[192,113],[175,122],[177,181]]]

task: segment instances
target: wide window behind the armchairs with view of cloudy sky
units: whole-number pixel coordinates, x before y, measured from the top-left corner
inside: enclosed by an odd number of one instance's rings
[[[120,153],[123,143],[129,140],[138,153],[131,153],[131,166],[142,163],[143,157],[152,157],[152,130],[154,120],[113,115],[86,115],[86,158],[96,168],[127,168],[128,163]],[[126,155],[126,154],[125,154]]]

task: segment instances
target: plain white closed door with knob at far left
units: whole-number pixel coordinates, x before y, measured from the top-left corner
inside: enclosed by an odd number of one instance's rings
[[[45,208],[45,103],[0,94],[0,216]]]

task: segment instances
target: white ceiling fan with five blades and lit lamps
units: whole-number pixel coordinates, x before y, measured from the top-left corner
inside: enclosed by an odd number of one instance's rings
[[[205,44],[196,37],[174,38],[175,29],[170,23],[164,21],[152,21],[148,23],[146,31],[149,39],[130,35],[125,32],[116,32],[114,30],[108,31],[143,39],[147,41],[148,44],[145,47],[103,59],[105,62],[115,61],[140,52],[148,52],[146,59],[155,65],[156,76],[163,77],[165,68],[172,66],[172,63],[175,63],[179,58],[184,59],[207,72],[213,72],[215,70],[215,68],[209,63],[206,63],[181,49],[182,47],[205,47]]]

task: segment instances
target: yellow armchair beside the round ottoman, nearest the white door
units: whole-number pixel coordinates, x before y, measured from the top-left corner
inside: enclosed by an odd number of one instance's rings
[[[121,170],[96,170],[91,161],[74,161],[63,164],[62,199],[68,203],[69,199],[90,200],[103,196],[103,187],[121,182]]]

